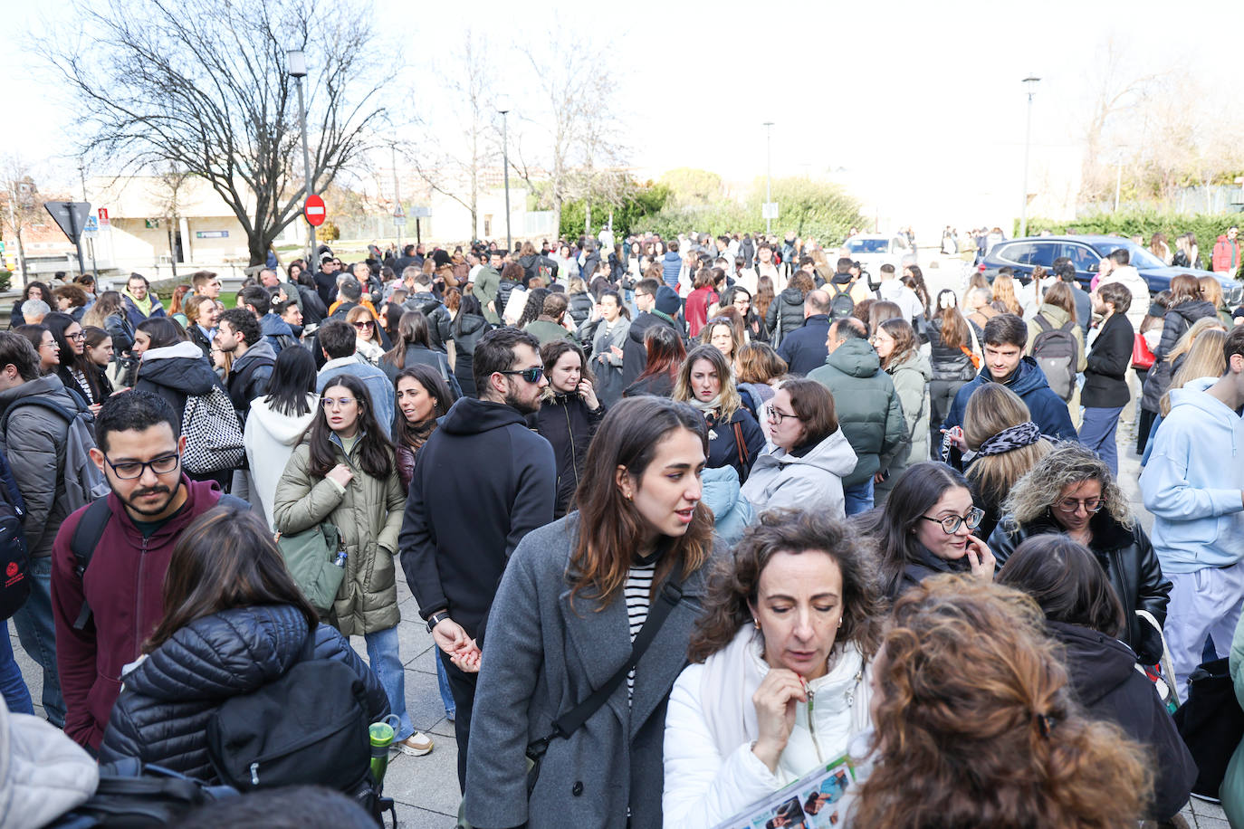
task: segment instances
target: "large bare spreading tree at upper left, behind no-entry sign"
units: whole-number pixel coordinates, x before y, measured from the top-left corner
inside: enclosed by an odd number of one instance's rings
[[[203,178],[246,232],[251,265],[300,211],[299,111],[286,50],[302,48],[311,178],[366,149],[378,85],[371,11],[350,0],[75,0],[82,37],[50,53],[86,148],[127,168]],[[55,44],[55,39],[47,39]],[[388,67],[386,67],[388,68]]]

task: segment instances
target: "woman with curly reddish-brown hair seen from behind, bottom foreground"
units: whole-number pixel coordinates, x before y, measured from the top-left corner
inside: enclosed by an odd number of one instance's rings
[[[875,660],[872,768],[850,825],[1137,825],[1141,747],[1088,720],[1030,598],[939,577],[894,607]]]

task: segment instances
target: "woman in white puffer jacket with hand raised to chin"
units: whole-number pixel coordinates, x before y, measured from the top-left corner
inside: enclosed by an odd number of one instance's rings
[[[871,727],[880,599],[845,524],[764,513],[705,607],[666,713],[666,829],[715,827]]]

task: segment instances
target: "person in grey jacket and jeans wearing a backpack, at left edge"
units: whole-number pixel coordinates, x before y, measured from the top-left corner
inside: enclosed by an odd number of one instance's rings
[[[47,337],[47,334],[44,334]],[[65,492],[65,447],[70,424],[37,405],[44,400],[66,411],[77,403],[56,374],[40,375],[39,352],[29,339],[0,333],[0,423],[4,449],[26,505],[21,528],[30,553],[30,598],[14,615],[21,646],[44,672],[42,705],[47,720],[62,727],[65,702],[56,671],[52,623],[52,542],[73,511]]]

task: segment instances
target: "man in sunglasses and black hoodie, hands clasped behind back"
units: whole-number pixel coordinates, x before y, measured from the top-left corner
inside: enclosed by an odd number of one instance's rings
[[[490,331],[475,346],[473,374],[479,399],[454,403],[419,450],[398,539],[454,696],[463,788],[488,611],[514,548],[552,521],[557,492],[552,446],[524,419],[549,385],[536,338]]]

